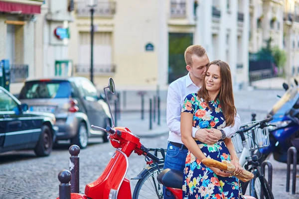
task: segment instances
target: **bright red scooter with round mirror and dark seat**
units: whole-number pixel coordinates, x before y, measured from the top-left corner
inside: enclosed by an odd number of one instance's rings
[[[116,152],[102,175],[93,183],[86,185],[85,195],[71,193],[71,199],[132,199],[130,181],[126,178],[129,167],[128,157],[132,152],[135,152],[138,155],[147,156],[152,162],[159,162],[159,158],[149,153],[149,149],[141,144],[140,138],[134,135],[128,128],[115,127],[106,92],[108,88],[112,94],[115,94],[115,85],[112,78],[109,78],[108,87],[104,88],[104,93],[109,105],[113,126],[107,126],[106,129],[99,126],[91,126],[109,133],[109,139],[112,146],[116,148]],[[182,172],[165,169],[158,175],[157,180],[160,184],[167,187],[176,199],[182,199]],[[158,197],[158,199],[162,198]],[[246,199],[255,198],[247,197]]]

